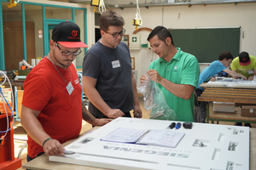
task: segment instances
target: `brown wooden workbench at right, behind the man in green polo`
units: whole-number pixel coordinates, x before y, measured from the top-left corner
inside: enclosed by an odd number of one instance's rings
[[[224,122],[249,122],[256,123],[255,116],[241,116],[238,108],[235,113],[212,111],[212,102],[231,102],[239,105],[256,105],[256,87],[244,88],[228,88],[228,87],[212,87],[206,82],[201,84],[205,88],[199,101],[208,101],[207,105],[207,122],[224,121]]]

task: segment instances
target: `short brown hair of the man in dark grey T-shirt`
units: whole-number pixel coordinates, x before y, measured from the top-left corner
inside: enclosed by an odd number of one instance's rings
[[[125,20],[123,17],[113,10],[104,11],[100,17],[100,29],[108,31],[109,26],[124,26]]]

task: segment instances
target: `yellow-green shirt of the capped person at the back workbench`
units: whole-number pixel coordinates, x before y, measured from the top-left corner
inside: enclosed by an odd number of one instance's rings
[[[236,57],[235,59],[232,60],[232,63],[230,65],[230,68],[232,71],[237,71],[241,75],[245,77],[252,77],[253,76],[253,70],[256,69],[256,57],[253,55],[249,55],[251,59],[251,64],[250,65],[240,65],[239,63],[239,57]]]

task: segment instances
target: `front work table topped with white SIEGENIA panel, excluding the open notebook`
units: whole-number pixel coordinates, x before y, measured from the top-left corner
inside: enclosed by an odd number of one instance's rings
[[[102,141],[102,137],[118,127],[135,129],[168,129],[172,121],[134,119],[120,117],[113,122],[92,128],[78,139],[68,141],[66,150],[83,152],[83,155],[43,155],[23,165],[29,169],[212,169],[232,170],[256,169],[256,130],[249,127],[193,123],[192,129],[183,127],[175,130],[184,132],[176,148],[142,144],[122,144]],[[182,122],[183,123],[183,122]],[[169,129],[174,131],[174,129]],[[84,139],[92,139],[81,144]],[[203,142],[200,147],[197,143]],[[230,144],[236,148],[229,150]],[[68,145],[67,145],[68,144]],[[79,144],[83,147],[78,147]],[[78,148],[78,149],[76,149]],[[138,151],[139,150],[139,151]],[[77,164],[77,165],[76,165]],[[250,167],[250,168],[249,168]]]

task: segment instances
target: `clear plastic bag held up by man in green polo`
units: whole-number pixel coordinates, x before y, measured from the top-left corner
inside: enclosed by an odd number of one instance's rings
[[[178,121],[175,111],[166,104],[164,94],[156,82],[149,77],[141,83],[137,89],[143,94],[144,107],[150,115],[150,119]]]

